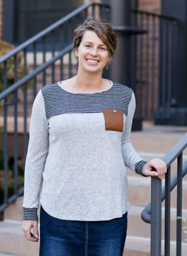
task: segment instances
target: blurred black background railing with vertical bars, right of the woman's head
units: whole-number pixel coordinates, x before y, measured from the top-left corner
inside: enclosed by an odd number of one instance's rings
[[[155,13],[133,10],[133,23],[148,30],[136,37],[136,70],[133,89],[136,95],[136,113],[152,120],[159,101],[173,104],[177,64],[178,20]],[[161,84],[161,86],[160,86]],[[162,88],[159,91],[159,88]]]

